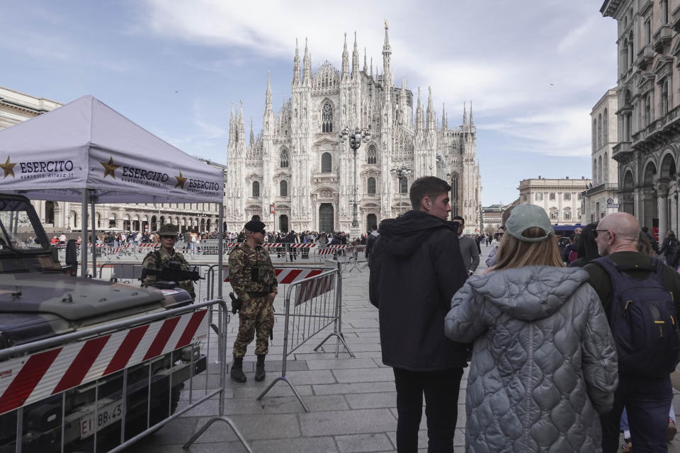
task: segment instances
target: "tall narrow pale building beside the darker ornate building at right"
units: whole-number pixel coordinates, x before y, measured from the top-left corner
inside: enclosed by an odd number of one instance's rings
[[[594,105],[592,121],[593,186],[582,193],[584,223],[598,222],[610,212],[618,211],[618,162],[611,156],[616,145],[618,97],[616,89],[608,90]]]

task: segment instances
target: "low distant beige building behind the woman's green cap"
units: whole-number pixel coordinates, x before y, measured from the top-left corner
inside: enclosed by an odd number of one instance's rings
[[[585,177],[524,179],[519,182],[519,202],[542,207],[553,224],[580,224],[582,193],[591,182]]]

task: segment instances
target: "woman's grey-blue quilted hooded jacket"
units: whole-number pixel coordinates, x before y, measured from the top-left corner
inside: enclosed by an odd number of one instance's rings
[[[527,266],[470,277],[446,336],[474,342],[466,452],[600,452],[598,413],[618,384],[616,347],[581,268]]]

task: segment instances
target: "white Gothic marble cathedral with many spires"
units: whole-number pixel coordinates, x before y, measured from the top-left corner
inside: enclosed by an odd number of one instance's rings
[[[254,137],[251,120],[246,137],[242,109],[229,123],[225,221],[239,231],[259,218],[276,231],[350,231],[354,202],[353,150],[338,132],[370,129],[370,141],[356,151],[356,204],[359,231],[410,209],[409,187],[421,176],[448,180],[452,214],[465,218],[467,233],[480,227],[480,171],[476,128],[463,109],[463,123],[448,126],[446,110],[436,119],[432,92],[426,105],[418,88],[414,95],[402,80],[395,86],[390,66],[392,50],[385,23],[382,74],[363,69],[356,34],[351,57],[345,36],[340,70],[324,62],[312,72],[310,51],[300,67],[295,47],[291,96],[276,112],[267,82],[261,133]],[[249,142],[246,144],[246,138]],[[411,173],[397,178],[393,171],[407,166]]]

